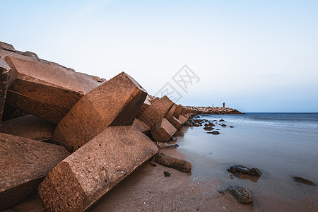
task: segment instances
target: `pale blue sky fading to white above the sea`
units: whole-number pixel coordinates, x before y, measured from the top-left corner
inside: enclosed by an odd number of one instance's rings
[[[318,1],[0,5],[0,41],[78,72],[108,80],[125,71],[182,105],[318,112]]]

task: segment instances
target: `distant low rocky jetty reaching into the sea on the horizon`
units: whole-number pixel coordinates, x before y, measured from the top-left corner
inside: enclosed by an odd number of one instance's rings
[[[235,110],[230,107],[194,107],[194,106],[184,106],[196,114],[244,114],[238,110]]]

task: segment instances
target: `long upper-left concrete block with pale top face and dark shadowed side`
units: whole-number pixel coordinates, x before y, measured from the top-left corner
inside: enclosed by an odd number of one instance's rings
[[[6,103],[49,122],[59,122],[73,105],[100,84],[61,66],[6,57],[11,85]]]

